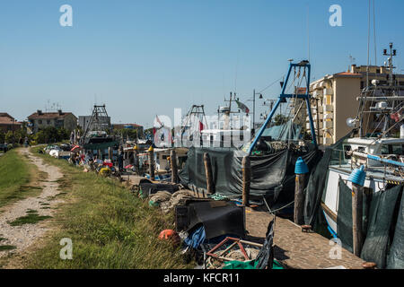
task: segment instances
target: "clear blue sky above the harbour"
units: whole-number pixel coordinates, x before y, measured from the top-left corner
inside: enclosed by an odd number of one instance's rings
[[[378,64],[392,41],[404,74],[404,1],[375,3]],[[59,25],[62,4],[73,27]],[[329,26],[331,4],[342,27]],[[213,115],[230,91],[251,106],[253,89],[285,74],[289,58],[308,57],[308,11],[312,78],[347,70],[350,55],[366,65],[368,0],[2,1],[0,111],[23,120],[49,101],[81,116],[96,101],[114,123],[148,127],[192,104]],[[373,50],[372,38],[372,64]]]

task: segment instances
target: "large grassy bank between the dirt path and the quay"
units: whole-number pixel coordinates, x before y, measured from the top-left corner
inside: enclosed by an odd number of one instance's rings
[[[38,154],[39,148],[32,152]],[[28,268],[190,268],[180,250],[158,239],[173,228],[173,214],[162,214],[133,196],[117,180],[84,173],[67,161],[39,154],[61,169],[65,204],[54,215],[54,231],[25,257]],[[56,230],[56,231],[55,231]],[[73,259],[62,260],[61,239],[71,239]]]

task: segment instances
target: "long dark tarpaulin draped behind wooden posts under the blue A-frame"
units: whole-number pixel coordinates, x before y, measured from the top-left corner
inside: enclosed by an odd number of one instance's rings
[[[242,196],[242,158],[246,152],[236,149],[195,148],[188,152],[188,160],[180,171],[180,182],[206,190],[204,153],[211,159],[215,193],[237,197]],[[294,200],[294,164],[298,157],[312,170],[320,161],[321,152],[296,152],[284,150],[262,156],[250,156],[251,181],[250,200],[267,198],[272,207],[288,204]]]

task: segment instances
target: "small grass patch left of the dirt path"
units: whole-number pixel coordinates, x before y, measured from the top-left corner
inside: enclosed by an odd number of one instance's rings
[[[0,207],[40,194],[40,172],[26,157],[13,149],[0,157]]]

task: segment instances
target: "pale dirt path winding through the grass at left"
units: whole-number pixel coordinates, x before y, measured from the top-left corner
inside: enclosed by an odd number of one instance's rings
[[[19,152],[22,156],[28,155],[29,160],[40,171],[48,174],[48,178],[41,178],[40,187],[43,189],[40,196],[28,197],[0,209],[0,238],[4,238],[0,245],[15,247],[12,250],[0,251],[0,258],[22,254],[33,243],[41,239],[50,228],[49,224],[47,224],[48,220],[18,226],[12,226],[8,222],[13,222],[17,218],[27,215],[29,210],[38,211],[40,216],[52,216],[55,213],[52,207],[63,202],[54,197],[60,193],[60,190],[58,190],[59,184],[56,181],[63,176],[60,170],[55,166],[45,164],[42,159],[34,156],[27,148],[20,149]],[[7,267],[7,265],[3,267]]]

